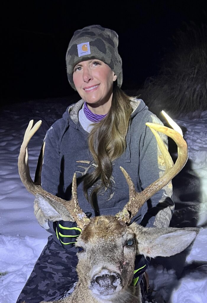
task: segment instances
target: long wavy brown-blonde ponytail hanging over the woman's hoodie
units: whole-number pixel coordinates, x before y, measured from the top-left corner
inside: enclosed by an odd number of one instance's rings
[[[112,162],[119,158],[126,148],[126,134],[132,108],[130,97],[118,86],[113,88],[111,108],[108,115],[94,127],[88,137],[89,150],[94,158],[97,168],[84,178],[84,195],[94,207],[97,194],[106,188],[112,189],[110,178],[112,175]],[[87,190],[100,179],[90,197]]]

